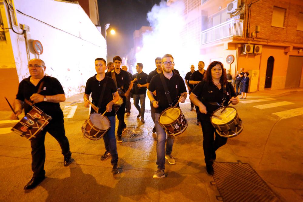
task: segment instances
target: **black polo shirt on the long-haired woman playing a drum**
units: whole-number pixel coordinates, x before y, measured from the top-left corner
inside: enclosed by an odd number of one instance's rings
[[[192,91],[192,93],[195,94],[198,99],[205,105],[208,113],[212,113],[216,109],[221,107],[209,104],[208,102],[217,102],[220,105],[223,103],[223,105],[226,106],[230,98],[236,96],[235,90],[230,82],[226,84],[225,95],[223,93],[223,87],[219,89],[215,84],[208,84],[205,81],[199,82]],[[225,98],[226,100],[224,100],[223,98]],[[210,114],[199,113],[199,116],[200,118],[202,118],[202,120],[210,121]]]

